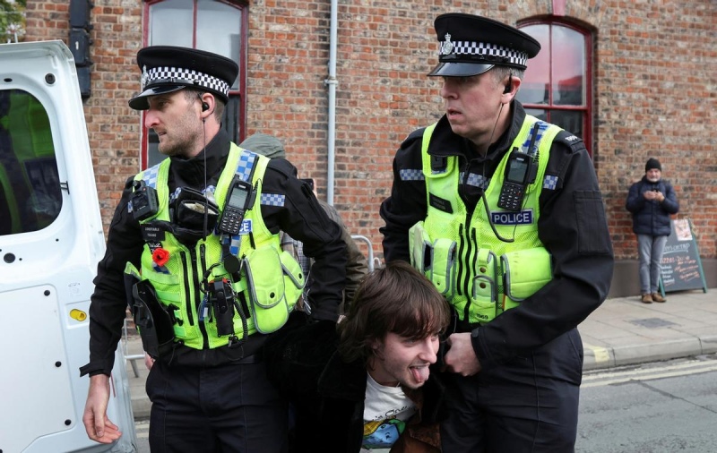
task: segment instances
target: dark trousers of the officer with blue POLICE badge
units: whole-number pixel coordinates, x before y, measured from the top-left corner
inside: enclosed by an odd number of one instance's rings
[[[572,453],[583,342],[573,329],[505,365],[464,378],[445,375],[451,453]]]

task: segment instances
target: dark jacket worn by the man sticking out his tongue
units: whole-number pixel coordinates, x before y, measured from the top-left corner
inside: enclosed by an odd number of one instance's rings
[[[344,363],[336,352],[335,324],[300,325],[293,313],[289,329],[270,336],[263,349],[269,380],[296,410],[291,451],[354,453],[361,449],[367,372],[363,363]],[[435,453],[444,387],[432,370],[418,390],[404,389],[419,407],[392,453]]]

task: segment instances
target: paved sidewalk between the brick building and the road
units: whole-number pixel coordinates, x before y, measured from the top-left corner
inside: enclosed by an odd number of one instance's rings
[[[578,327],[583,337],[583,370],[717,353],[717,290],[669,293],[667,303],[641,303],[639,296],[608,299]],[[136,334],[130,355],[142,354]],[[144,391],[149,373],[142,359],[127,361],[135,419],[150,416]]]

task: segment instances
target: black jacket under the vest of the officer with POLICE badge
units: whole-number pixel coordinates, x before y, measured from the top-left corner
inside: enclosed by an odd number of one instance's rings
[[[493,176],[523,125],[525,110],[518,101],[513,101],[511,115],[510,127],[485,157],[452,131],[445,115],[436,125],[428,154],[459,158],[464,172],[459,195],[468,209],[480,202],[482,192],[473,181]],[[386,261],[410,261],[409,228],[427,215],[426,182],[413,177],[422,167],[422,136],[422,129],[412,132],[393,160],[391,197],[381,205]],[[552,257],[553,279],[519,307],[476,329],[473,349],[484,371],[575,329],[609,292],[612,244],[595,169],[582,140],[569,132],[557,134],[546,178],[551,184],[540,192],[538,235]]]

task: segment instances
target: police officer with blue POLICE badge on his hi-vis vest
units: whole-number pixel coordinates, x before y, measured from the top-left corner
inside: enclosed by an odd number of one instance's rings
[[[410,133],[381,206],[386,261],[410,261],[454,309],[444,451],[574,450],[583,346],[613,253],[583,141],[515,100],[534,39],[439,15],[445,115]]]

